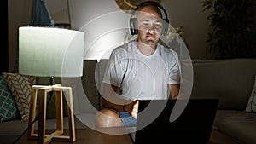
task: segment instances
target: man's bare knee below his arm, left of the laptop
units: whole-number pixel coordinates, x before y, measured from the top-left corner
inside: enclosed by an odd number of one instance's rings
[[[96,127],[119,127],[122,126],[119,114],[110,109],[103,109],[96,113]]]

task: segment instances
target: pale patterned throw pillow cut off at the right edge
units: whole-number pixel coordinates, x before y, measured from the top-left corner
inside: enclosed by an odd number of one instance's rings
[[[256,75],[253,90],[247,102],[246,112],[256,112]]]

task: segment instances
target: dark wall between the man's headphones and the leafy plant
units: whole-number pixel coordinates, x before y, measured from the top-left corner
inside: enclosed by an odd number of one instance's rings
[[[202,12],[201,0],[163,0],[168,9],[172,26],[183,26],[192,59],[211,59],[212,56],[205,42],[209,21],[207,13]]]

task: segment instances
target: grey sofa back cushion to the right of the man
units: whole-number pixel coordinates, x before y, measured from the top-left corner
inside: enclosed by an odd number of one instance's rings
[[[191,97],[219,99],[219,109],[245,110],[252,92],[256,59],[193,60]]]

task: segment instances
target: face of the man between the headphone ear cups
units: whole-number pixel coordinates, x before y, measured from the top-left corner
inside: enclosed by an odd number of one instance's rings
[[[155,10],[141,9],[137,14],[138,42],[154,45],[162,31],[162,19]]]

